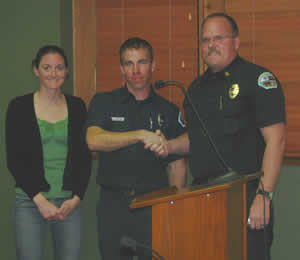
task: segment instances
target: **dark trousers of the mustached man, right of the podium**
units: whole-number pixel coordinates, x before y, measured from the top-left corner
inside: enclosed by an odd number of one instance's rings
[[[247,218],[252,202],[256,196],[258,181],[247,184]],[[247,228],[247,260],[271,260],[273,241],[274,211],[271,203],[270,223],[264,230]]]

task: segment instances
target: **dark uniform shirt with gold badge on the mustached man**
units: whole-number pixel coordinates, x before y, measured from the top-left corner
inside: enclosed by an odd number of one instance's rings
[[[226,172],[261,169],[265,143],[260,128],[285,122],[284,96],[267,69],[240,57],[223,71],[209,69],[188,90],[222,163],[187,100],[184,109],[190,138],[190,168],[199,179]]]

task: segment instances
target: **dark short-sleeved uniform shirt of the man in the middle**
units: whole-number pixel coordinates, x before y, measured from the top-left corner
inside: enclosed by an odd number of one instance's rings
[[[137,101],[127,87],[96,94],[88,112],[88,127],[98,126],[112,132],[160,129],[167,139],[184,132],[176,105],[151,89],[146,100]],[[144,149],[143,143],[130,145],[112,152],[99,152],[97,183],[117,189],[138,187],[143,191],[168,185],[166,167],[179,159],[157,157]]]

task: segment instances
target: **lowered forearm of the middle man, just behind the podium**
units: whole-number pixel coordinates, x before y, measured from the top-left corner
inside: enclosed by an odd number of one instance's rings
[[[186,184],[185,159],[179,159],[170,163],[169,185],[182,188]]]

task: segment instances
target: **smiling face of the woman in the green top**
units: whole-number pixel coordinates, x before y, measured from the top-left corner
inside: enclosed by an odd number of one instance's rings
[[[39,67],[34,67],[33,71],[40,79],[41,88],[45,89],[59,89],[68,73],[64,59],[58,53],[43,56]]]

